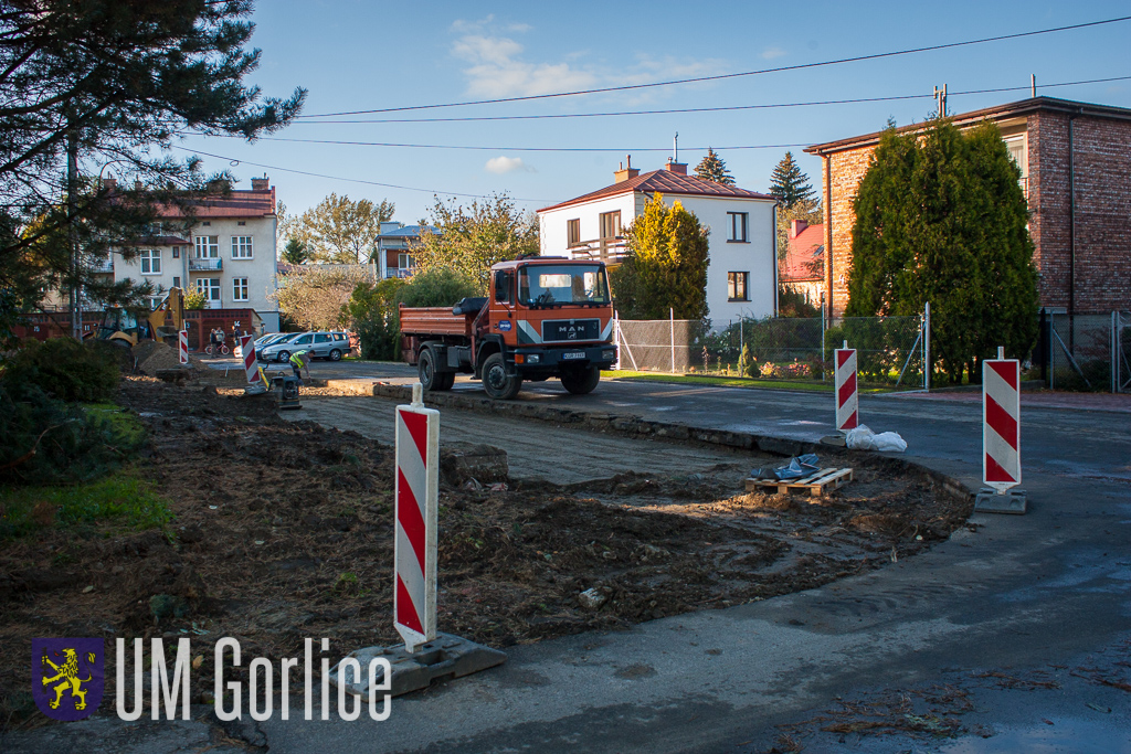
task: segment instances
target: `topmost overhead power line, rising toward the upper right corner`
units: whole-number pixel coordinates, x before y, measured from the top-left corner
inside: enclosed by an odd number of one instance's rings
[[[1122,21],[1126,21],[1126,20],[1131,20],[1131,16],[1121,16],[1119,18],[1106,18],[1104,20],[1088,21],[1088,23],[1085,23],[1085,24],[1071,24],[1069,26],[1055,26],[1055,27],[1052,27],[1052,28],[1036,29],[1036,31],[1033,31],[1033,32],[1018,32],[1018,33],[1015,33],[1015,34],[1000,34],[998,36],[987,36],[987,37],[982,37],[982,38],[978,38],[978,40],[966,40],[966,41],[962,41],[962,42],[948,42],[946,44],[932,44],[932,45],[926,45],[926,46],[922,46],[922,47],[910,47],[910,49],[906,49],[906,50],[891,50],[891,51],[888,51],[888,52],[877,52],[877,53],[871,53],[871,54],[866,54],[866,55],[854,55],[854,57],[851,57],[851,58],[838,58],[836,60],[824,60],[824,61],[815,62],[815,63],[796,63],[794,66],[778,66],[776,68],[762,68],[762,69],[751,70],[751,71],[739,71],[739,72],[734,72],[734,73],[718,73],[718,75],[715,75],[715,76],[697,76],[694,78],[672,79],[672,80],[668,80],[668,81],[654,81],[651,84],[628,84],[628,85],[622,85],[622,86],[608,86],[608,87],[594,88],[594,89],[577,89],[577,90],[573,90],[573,92],[555,92],[555,93],[551,93],[551,94],[530,94],[530,95],[525,95],[525,96],[520,96],[520,97],[499,97],[499,98],[495,98],[495,99],[476,99],[476,101],[467,101],[467,102],[449,102],[449,103],[439,103],[439,104],[431,104],[431,105],[406,105],[406,106],[403,106],[403,107],[380,107],[380,109],[373,109],[373,110],[352,110],[352,111],[344,111],[344,112],[337,112],[337,113],[318,113],[318,114],[314,114],[314,115],[301,115],[300,118],[302,118],[302,119],[309,119],[309,118],[336,118],[336,116],[342,116],[342,115],[366,115],[366,114],[372,114],[372,113],[396,113],[396,112],[406,112],[406,111],[413,111],[413,110],[435,110],[435,109],[439,109],[439,107],[465,107],[465,106],[469,106],[469,105],[495,105],[495,104],[502,104],[502,103],[508,103],[508,102],[530,102],[530,101],[534,101],[534,99],[552,99],[552,98],[556,98],[556,97],[576,97],[576,96],[588,95],[588,94],[607,94],[607,93],[611,93],[611,92],[630,92],[630,90],[633,90],[633,89],[650,89],[650,88],[656,88],[656,87],[662,87],[662,86],[676,86],[676,85],[681,85],[681,84],[701,84],[703,81],[720,81],[720,80],[725,80],[725,79],[733,79],[733,78],[740,78],[740,77],[746,77],[746,76],[762,76],[762,75],[766,75],[766,73],[782,73],[782,72],[785,72],[785,71],[806,70],[806,69],[811,69],[811,68],[822,68],[822,67],[826,67],[826,66],[839,66],[839,64],[843,64],[843,63],[863,62],[865,60],[881,60],[883,58],[895,58],[895,57],[898,57],[898,55],[910,55],[910,54],[916,54],[916,53],[921,53],[921,52],[933,52],[933,51],[936,51],[936,50],[952,50],[955,47],[965,47],[965,46],[970,46],[970,45],[975,45],[975,44],[987,44],[990,42],[1003,42],[1005,40],[1019,40],[1019,38],[1029,37],[1029,36],[1037,36],[1037,35],[1041,35],[1041,34],[1054,34],[1054,33],[1057,33],[1057,32],[1069,32],[1069,31],[1072,31],[1072,29],[1089,28],[1089,27],[1093,27],[1093,26],[1104,26],[1106,24],[1117,24],[1117,23],[1122,23]]]

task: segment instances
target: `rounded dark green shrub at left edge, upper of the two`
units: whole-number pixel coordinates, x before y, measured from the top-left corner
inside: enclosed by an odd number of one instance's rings
[[[70,338],[29,340],[3,365],[0,383],[16,400],[32,387],[66,402],[107,400],[120,376],[114,347]]]

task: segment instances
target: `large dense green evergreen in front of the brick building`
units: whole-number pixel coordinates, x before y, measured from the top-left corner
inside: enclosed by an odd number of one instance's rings
[[[915,315],[931,302],[932,354],[951,382],[981,380],[998,346],[1036,338],[1037,272],[1020,173],[998,127],[889,127],[853,209],[849,317]]]

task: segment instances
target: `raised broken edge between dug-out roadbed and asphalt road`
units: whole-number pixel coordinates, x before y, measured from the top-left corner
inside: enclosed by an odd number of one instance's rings
[[[373,384],[372,395],[378,398],[392,398],[408,401],[412,399],[412,387],[404,384]],[[539,406],[524,401],[492,400],[486,397],[461,396],[454,392],[425,392],[424,404],[434,408],[459,408],[482,414],[511,415],[526,418],[552,422],[556,424],[576,424],[589,430],[618,432],[628,436],[656,437],[677,442],[692,442],[700,445],[720,445],[735,450],[759,450],[782,457],[800,456],[801,453],[845,453],[864,458],[875,465],[887,465],[904,471],[922,475],[934,482],[943,493],[959,502],[970,502],[975,492],[958,479],[941,471],[927,468],[904,458],[880,456],[864,450],[831,449],[817,442],[774,437],[770,435],[732,432],[728,430],[711,430],[693,427],[672,422],[656,422],[639,416],[619,416],[597,411],[579,411],[570,408]]]

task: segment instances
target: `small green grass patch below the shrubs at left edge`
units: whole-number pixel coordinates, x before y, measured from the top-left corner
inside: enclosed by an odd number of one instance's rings
[[[77,485],[0,487],[0,539],[51,526],[74,529],[112,522],[124,529],[153,529],[172,518],[156,485],[137,469]]]

